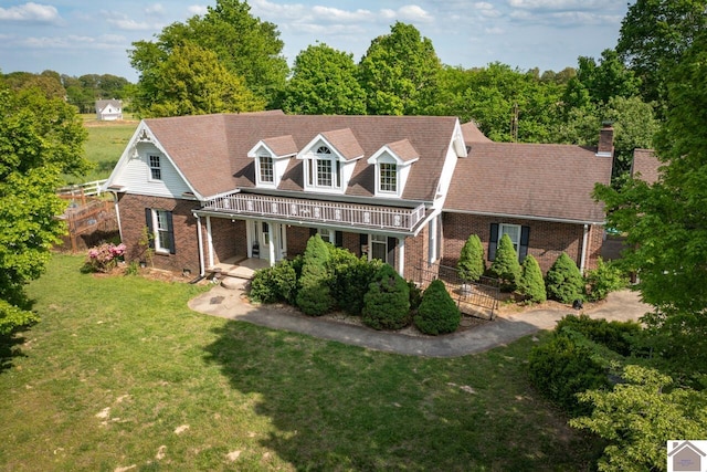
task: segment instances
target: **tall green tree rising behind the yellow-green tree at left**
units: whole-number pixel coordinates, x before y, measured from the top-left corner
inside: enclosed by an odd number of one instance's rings
[[[226,71],[243,77],[258,101],[273,103],[287,76],[283,42],[273,23],[254,18],[250,10],[245,1],[218,0],[203,17],[166,27],[156,42],[134,42],[129,56],[140,74],[136,97],[139,109],[149,109],[150,97],[158,92],[160,64],[187,42],[214,53]]]

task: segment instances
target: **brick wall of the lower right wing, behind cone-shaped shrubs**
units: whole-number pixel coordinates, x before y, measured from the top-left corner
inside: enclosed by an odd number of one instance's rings
[[[581,263],[583,224],[558,223],[550,221],[523,220],[514,218],[481,217],[462,213],[443,213],[444,258],[443,265],[456,266],[462,247],[469,234],[477,234],[488,256],[488,241],[492,223],[508,223],[530,227],[528,254],[538,260],[542,272],[547,272],[557,258],[566,252],[579,266]],[[590,227],[589,258],[587,269],[597,266],[603,239],[602,227]],[[488,260],[487,265],[490,264]]]

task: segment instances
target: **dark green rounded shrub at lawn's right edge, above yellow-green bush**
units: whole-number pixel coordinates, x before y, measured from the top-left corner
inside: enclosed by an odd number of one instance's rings
[[[606,388],[606,371],[593,359],[593,352],[566,334],[555,336],[530,352],[530,382],[545,397],[573,416],[587,415],[591,407],[580,403],[577,394]]]

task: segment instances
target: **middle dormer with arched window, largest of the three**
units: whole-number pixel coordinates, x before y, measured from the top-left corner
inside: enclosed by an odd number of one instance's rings
[[[306,191],[344,193],[363,149],[349,128],[321,133],[297,155]]]

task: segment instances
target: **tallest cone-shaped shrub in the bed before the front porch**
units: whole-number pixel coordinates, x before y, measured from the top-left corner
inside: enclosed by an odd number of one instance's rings
[[[309,238],[302,265],[299,291],[295,298],[297,307],[307,315],[321,316],[335,304],[330,289],[329,260],[329,249],[321,237],[315,234]]]

